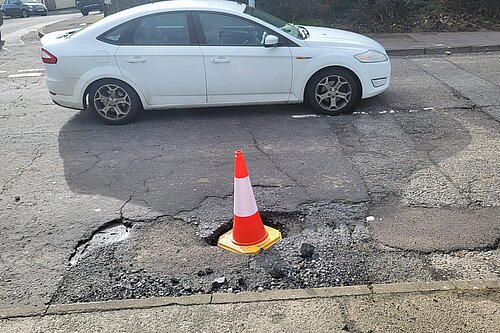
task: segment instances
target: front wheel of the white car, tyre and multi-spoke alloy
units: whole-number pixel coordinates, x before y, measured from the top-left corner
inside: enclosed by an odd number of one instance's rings
[[[343,68],[321,70],[307,84],[306,101],[319,113],[336,116],[352,112],[361,95],[358,82]]]

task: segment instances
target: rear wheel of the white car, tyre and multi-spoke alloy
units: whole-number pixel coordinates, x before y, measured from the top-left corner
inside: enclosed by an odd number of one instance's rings
[[[142,110],[141,100],[135,90],[115,79],[99,80],[92,84],[88,101],[90,109],[110,125],[129,123]]]

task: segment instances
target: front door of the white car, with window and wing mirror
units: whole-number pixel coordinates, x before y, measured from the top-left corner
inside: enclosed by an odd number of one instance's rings
[[[266,35],[276,33],[239,16],[198,12],[194,17],[209,104],[288,101],[292,59],[286,41],[265,47]]]

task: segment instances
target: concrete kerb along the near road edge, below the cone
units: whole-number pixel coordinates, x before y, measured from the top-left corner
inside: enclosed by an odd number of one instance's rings
[[[356,296],[376,296],[391,294],[413,294],[430,292],[485,292],[500,291],[499,280],[477,281],[433,281],[413,283],[391,283],[331,288],[311,288],[293,290],[273,290],[265,292],[244,292],[238,294],[199,294],[181,297],[156,297],[145,299],[113,300],[103,302],[54,304],[45,306],[25,306],[0,309],[0,319],[35,317],[45,315],[65,315],[131,309],[149,309],[172,305],[193,306],[209,304],[272,302],[314,298],[336,298]]]

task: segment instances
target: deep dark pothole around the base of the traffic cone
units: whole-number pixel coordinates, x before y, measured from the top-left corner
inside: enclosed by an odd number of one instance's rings
[[[289,237],[300,234],[304,229],[304,216],[300,213],[289,212],[260,212],[262,223],[265,225],[278,229],[283,237]],[[211,246],[217,246],[219,237],[231,230],[233,227],[233,220],[227,223],[221,223],[217,228],[211,230],[211,233],[202,239]]]

